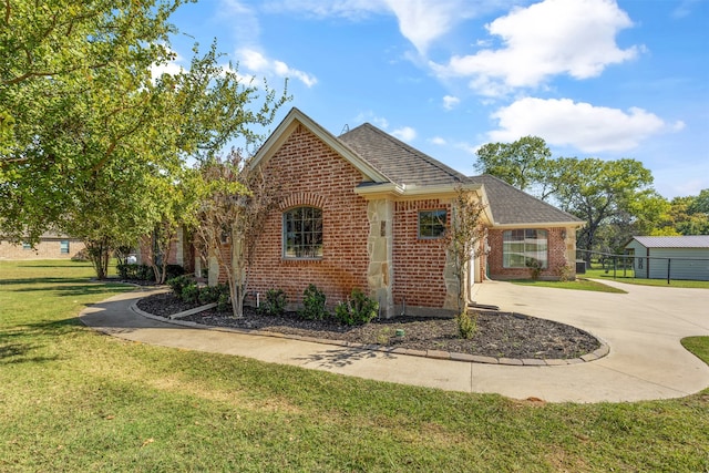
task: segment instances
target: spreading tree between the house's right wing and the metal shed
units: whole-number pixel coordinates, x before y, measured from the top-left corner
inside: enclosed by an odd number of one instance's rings
[[[653,175],[643,163],[630,160],[559,157],[555,183],[561,207],[586,220],[577,235],[577,247],[592,251],[597,248],[598,232],[604,225],[626,222],[647,225],[662,210],[661,197],[651,187]],[[614,244],[615,245],[615,244]],[[586,254],[590,258],[590,254]]]

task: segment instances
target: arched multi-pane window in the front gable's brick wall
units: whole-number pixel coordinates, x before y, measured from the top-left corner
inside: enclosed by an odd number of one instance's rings
[[[322,257],[322,209],[296,207],[284,213],[284,258]]]

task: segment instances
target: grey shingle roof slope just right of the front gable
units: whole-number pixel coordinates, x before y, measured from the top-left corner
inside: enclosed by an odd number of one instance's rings
[[[465,175],[369,123],[338,136],[338,140],[394,184],[431,186],[467,182]]]

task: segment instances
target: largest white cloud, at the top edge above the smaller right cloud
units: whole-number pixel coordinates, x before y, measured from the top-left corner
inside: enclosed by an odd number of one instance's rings
[[[640,48],[623,50],[615,41],[631,25],[613,0],[545,0],[515,8],[486,25],[502,48],[431,65],[441,76],[472,78],[470,86],[484,95],[537,86],[558,74],[587,79],[638,54]]]

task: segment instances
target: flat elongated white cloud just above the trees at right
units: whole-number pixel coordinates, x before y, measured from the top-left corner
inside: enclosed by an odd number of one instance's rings
[[[623,111],[569,99],[526,97],[497,110],[492,117],[500,125],[489,133],[493,142],[535,135],[548,144],[571,145],[587,153],[633,150],[651,135],[684,126],[681,122],[667,124],[643,109]]]

